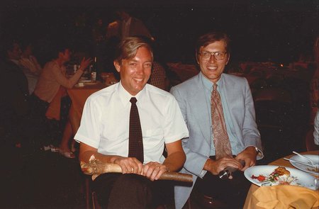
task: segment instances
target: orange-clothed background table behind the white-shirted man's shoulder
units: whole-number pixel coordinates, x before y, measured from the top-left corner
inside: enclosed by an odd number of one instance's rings
[[[69,108],[69,122],[72,125],[74,133],[79,129],[86,98],[107,86],[105,83],[96,81],[86,82],[80,85],[77,84],[72,89],[67,89],[67,94],[72,101],[71,107]]]

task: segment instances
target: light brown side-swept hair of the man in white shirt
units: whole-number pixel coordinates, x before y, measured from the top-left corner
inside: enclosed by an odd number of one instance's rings
[[[127,59],[131,59],[135,57],[136,52],[138,52],[138,48],[140,47],[146,47],[148,50],[150,50],[150,53],[153,59],[152,47],[147,42],[147,40],[141,37],[132,36],[132,37],[124,38],[118,44],[118,46],[116,47],[114,61],[121,64],[122,60],[127,60]]]

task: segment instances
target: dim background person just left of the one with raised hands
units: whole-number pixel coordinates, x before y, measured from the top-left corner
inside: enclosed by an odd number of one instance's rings
[[[23,72],[28,79],[29,94],[32,94],[38,82],[42,67],[33,56],[33,45],[31,43],[22,45],[22,55],[19,62],[21,66],[23,66]]]

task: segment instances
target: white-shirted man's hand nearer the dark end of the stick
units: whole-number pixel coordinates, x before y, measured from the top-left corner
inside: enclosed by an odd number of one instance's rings
[[[142,175],[146,176],[147,179],[150,179],[150,181],[154,181],[159,179],[159,177],[166,171],[169,171],[169,169],[167,169],[167,166],[164,164],[149,162],[145,164]]]

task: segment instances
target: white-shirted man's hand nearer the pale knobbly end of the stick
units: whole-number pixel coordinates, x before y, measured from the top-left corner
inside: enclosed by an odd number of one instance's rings
[[[122,174],[142,174],[143,164],[135,157],[116,157],[115,164],[121,166]]]

